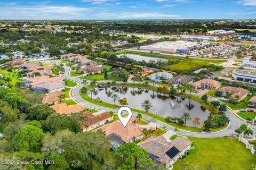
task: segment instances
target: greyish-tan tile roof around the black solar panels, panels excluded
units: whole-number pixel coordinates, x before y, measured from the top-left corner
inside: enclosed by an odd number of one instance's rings
[[[151,136],[145,141],[138,143],[138,145],[147,149],[150,154],[156,156],[158,162],[168,165],[172,161],[172,158],[166,154],[167,151],[175,147],[182,152],[186,150],[191,143],[192,142],[187,138],[180,137],[175,138],[171,142],[166,142],[166,139],[162,135],[159,135],[157,137]]]

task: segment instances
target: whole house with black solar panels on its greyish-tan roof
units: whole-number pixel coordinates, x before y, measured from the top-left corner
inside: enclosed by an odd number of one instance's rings
[[[177,162],[182,155],[186,154],[191,148],[192,142],[187,138],[177,137],[171,142],[167,142],[162,136],[151,136],[145,141],[139,142],[138,145],[148,150],[148,154],[153,162],[164,164],[167,168],[172,169],[173,164]]]

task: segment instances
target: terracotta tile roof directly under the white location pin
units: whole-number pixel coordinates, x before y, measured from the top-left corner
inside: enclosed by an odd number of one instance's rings
[[[103,126],[100,128],[103,132],[106,133],[106,135],[110,135],[111,133],[115,133],[119,135],[123,141],[127,142],[133,137],[137,138],[143,132],[137,128],[137,123],[132,123],[134,120],[136,120],[136,117],[132,117],[130,120],[130,123],[127,124],[126,128],[124,128],[123,124],[118,120],[116,122],[110,123],[108,125]]]

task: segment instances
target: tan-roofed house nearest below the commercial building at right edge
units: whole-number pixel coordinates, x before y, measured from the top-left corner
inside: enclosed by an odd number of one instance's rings
[[[231,94],[230,99],[235,99],[235,100],[242,100],[244,99],[248,94],[249,94],[249,90],[240,88],[240,87],[223,87],[221,89],[219,89],[218,91],[221,92],[221,96],[227,97],[228,94]]]

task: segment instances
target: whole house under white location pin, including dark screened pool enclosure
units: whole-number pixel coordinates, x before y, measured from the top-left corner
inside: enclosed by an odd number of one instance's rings
[[[124,128],[123,124],[118,120],[103,126],[100,130],[105,132],[112,145],[122,145],[128,142],[135,142],[145,136],[138,128],[137,118],[135,116],[131,118],[126,128]]]

